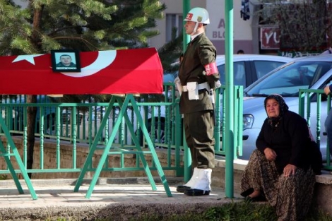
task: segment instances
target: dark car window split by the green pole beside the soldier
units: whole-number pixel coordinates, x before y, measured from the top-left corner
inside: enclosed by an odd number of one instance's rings
[[[244,61],[237,61],[233,63],[233,73],[234,73],[234,85],[246,85],[246,73],[244,68]],[[218,71],[220,73],[220,83],[225,85],[225,64],[218,66]]]

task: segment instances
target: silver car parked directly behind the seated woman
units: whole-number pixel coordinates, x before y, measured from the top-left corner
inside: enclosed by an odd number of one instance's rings
[[[299,113],[299,89],[324,89],[332,81],[332,55],[309,56],[282,66],[244,90],[243,102],[243,155],[239,157],[248,160],[256,148],[256,138],[259,135],[263,121],[267,115],[263,101],[272,93],[284,97],[286,104],[293,112]],[[310,125],[316,138],[316,96],[312,95]],[[321,141],[320,148],[326,159],[326,136],[324,136],[324,121],[327,115],[326,97],[321,102]],[[304,116],[306,117],[306,116]]]

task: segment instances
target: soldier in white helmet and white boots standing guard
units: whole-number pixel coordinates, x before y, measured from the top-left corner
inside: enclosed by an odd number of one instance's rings
[[[186,34],[190,35],[183,60],[179,66],[178,85],[180,112],[184,116],[186,143],[190,148],[194,168],[191,179],[177,191],[188,196],[204,196],[211,192],[211,173],[215,167],[213,138],[214,92],[219,82],[215,47],[206,37],[206,25],[210,23],[205,8],[192,8],[184,19]]]

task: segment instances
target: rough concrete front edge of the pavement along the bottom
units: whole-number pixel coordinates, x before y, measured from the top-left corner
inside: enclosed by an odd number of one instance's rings
[[[208,208],[220,207],[230,201],[194,203],[126,203],[110,205],[83,205],[81,207],[54,207],[31,209],[2,209],[0,220],[112,220],[127,221],[147,217],[170,217],[186,213],[201,214]],[[158,211],[158,213],[156,212]]]

